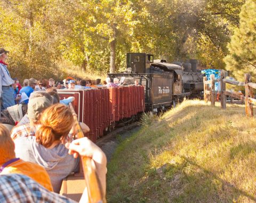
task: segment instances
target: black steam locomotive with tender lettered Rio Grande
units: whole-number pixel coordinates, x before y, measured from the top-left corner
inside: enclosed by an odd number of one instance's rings
[[[197,60],[190,63],[167,63],[155,60],[146,53],[127,53],[127,70],[109,73],[111,79],[122,79],[123,85],[134,84],[135,80],[145,87],[147,111],[157,112],[175,105],[185,97],[200,97],[204,75],[197,71]]]

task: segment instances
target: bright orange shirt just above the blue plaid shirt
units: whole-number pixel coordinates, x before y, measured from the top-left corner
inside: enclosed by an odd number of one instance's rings
[[[50,176],[42,166],[31,162],[25,162],[25,160],[19,159],[16,162],[7,165],[1,172],[1,175],[9,173],[19,173],[27,175],[39,184],[43,185],[43,187],[45,187],[46,189],[53,191]]]

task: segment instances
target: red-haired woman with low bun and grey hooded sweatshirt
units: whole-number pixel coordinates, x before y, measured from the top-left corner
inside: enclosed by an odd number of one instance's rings
[[[62,179],[77,171],[79,159],[68,155],[63,143],[70,139],[74,119],[69,108],[54,104],[40,117],[35,136],[20,136],[14,140],[15,154],[27,162],[43,166],[50,175],[53,191],[59,193]]]

